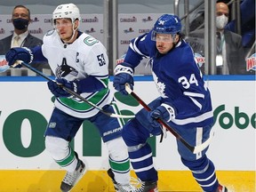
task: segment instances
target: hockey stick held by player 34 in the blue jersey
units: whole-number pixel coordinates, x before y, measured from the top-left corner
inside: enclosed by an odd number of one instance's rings
[[[130,85],[129,84],[125,84],[125,91],[128,92],[129,94],[132,95],[132,97],[137,100],[141,106],[143,106],[143,108],[145,108],[147,111],[151,111],[151,108],[148,107],[148,105],[140,99],[140,97],[131,90]],[[180,140],[180,142],[182,142],[192,153],[197,154],[201,151],[203,151],[205,148],[207,148],[212,140],[213,134],[210,135],[210,137],[208,138],[208,140],[205,140],[204,143],[202,143],[201,145],[198,145],[196,147],[193,147],[191,145],[188,144],[188,142],[186,140],[184,140],[180,134],[178,132],[176,132],[175,130],[172,129],[171,126],[169,126],[169,124],[167,124],[163,119],[156,119],[156,121],[159,124],[164,125],[164,127],[172,132],[172,134],[177,138],[177,140]]]

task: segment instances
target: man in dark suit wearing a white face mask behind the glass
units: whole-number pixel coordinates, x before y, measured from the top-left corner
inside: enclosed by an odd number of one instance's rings
[[[227,4],[221,2],[216,4],[216,74],[248,74],[242,36],[225,29],[228,24],[228,14]],[[187,41],[196,53],[204,56],[204,28],[192,31]]]

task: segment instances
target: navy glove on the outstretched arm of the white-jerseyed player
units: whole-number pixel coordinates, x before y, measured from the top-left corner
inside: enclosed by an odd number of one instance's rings
[[[14,64],[16,60],[22,60],[29,64],[32,62],[33,58],[33,53],[27,47],[15,47],[5,54],[5,59],[8,61],[8,65],[13,68],[21,68],[20,64]]]

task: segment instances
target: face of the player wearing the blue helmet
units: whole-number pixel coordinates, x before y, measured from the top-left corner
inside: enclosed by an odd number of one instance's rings
[[[173,47],[173,38],[171,34],[156,34],[156,49],[165,54]]]

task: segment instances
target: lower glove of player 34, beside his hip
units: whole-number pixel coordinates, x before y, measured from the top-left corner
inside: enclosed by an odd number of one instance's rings
[[[170,122],[174,116],[174,110],[171,106],[162,104],[156,109],[148,112],[148,122],[153,127],[159,127],[160,124],[157,122],[157,119],[162,119],[166,122]]]

